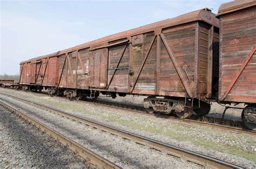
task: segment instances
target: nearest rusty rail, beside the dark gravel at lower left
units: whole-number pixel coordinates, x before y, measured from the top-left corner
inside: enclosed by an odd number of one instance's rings
[[[86,147],[79,145],[77,142],[69,139],[68,137],[62,135],[56,130],[53,130],[49,126],[37,121],[37,119],[31,117],[30,115],[18,110],[8,103],[4,103],[0,101],[0,105],[9,109],[10,111],[15,112],[17,115],[24,118],[26,121],[30,122],[32,125],[35,125],[38,129],[42,130],[43,132],[50,135],[52,138],[56,139],[57,142],[63,144],[64,146],[68,147],[70,150],[78,154],[78,156],[84,158],[86,160],[86,164],[90,166],[95,166],[97,168],[120,168],[118,165],[112,163],[111,161],[99,156],[95,152],[86,149]]]

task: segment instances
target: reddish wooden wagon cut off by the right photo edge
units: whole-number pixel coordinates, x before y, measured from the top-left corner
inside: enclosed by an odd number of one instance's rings
[[[256,1],[222,4],[219,102],[246,103],[242,121],[256,130]]]

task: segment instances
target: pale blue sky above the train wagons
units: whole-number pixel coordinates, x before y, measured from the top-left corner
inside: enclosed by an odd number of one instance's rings
[[[0,0],[1,1],[1,0]],[[19,62],[231,0],[1,1],[0,74]]]

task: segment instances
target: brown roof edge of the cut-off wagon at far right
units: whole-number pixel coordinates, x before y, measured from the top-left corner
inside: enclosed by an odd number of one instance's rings
[[[218,14],[216,16],[220,16],[225,13],[238,11],[241,9],[245,9],[245,8],[248,8],[248,7],[254,6],[254,5],[256,5],[256,0],[238,0],[238,1],[224,3],[224,4],[220,5]]]

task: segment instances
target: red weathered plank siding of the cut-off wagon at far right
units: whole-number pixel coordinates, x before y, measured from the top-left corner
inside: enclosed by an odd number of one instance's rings
[[[221,34],[220,101],[256,103],[256,53],[252,55],[234,85],[230,86],[256,44],[255,13],[256,6],[254,5],[219,16]],[[229,88],[231,89],[228,92]]]

